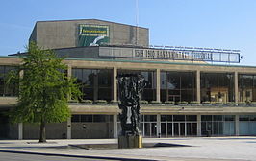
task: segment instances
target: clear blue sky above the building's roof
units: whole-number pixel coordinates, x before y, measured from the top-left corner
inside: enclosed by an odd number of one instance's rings
[[[239,49],[256,66],[256,0],[138,0],[150,44]],[[1,0],[0,55],[24,51],[36,21],[102,19],[136,24],[136,0]]]

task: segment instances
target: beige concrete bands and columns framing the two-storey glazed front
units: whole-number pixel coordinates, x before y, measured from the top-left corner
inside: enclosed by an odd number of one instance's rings
[[[18,58],[0,58],[1,64],[13,65],[13,62],[19,62]],[[256,73],[256,67],[246,66],[224,66],[224,65],[208,65],[208,64],[187,64],[187,63],[171,63],[171,62],[159,62],[159,61],[135,61],[135,60],[110,60],[110,59],[77,59],[66,58],[64,59],[69,67],[68,76],[71,76],[70,72],[72,68],[91,68],[100,69],[108,68],[113,70],[113,78],[116,76],[116,71],[119,69],[129,70],[153,70],[157,73],[161,71],[194,71],[197,73],[197,85],[200,85],[198,80],[200,72],[229,72],[234,74],[252,74]],[[1,65],[0,64],[0,65]],[[160,74],[157,74],[157,80],[160,80]],[[238,81],[238,79],[235,79]],[[114,79],[114,82],[116,80]],[[160,81],[157,81],[156,90],[160,93]],[[235,89],[238,89],[238,82],[235,82]],[[236,92],[236,95],[238,92]],[[113,88],[113,97],[117,100],[116,84]],[[200,95],[200,88],[197,87],[197,96]],[[237,97],[235,95],[235,97]],[[14,97],[0,97],[1,109],[8,109],[15,103]],[[200,97],[197,97],[199,102]],[[156,101],[160,100],[160,96]],[[237,99],[236,99],[237,101]],[[70,104],[69,105],[72,114],[106,114],[115,116],[114,123],[71,123],[71,131],[67,127],[67,123],[51,124],[48,125],[49,131],[47,137],[49,138],[111,138],[116,137],[118,133],[117,129],[117,114],[119,113],[118,106],[116,104],[107,105],[90,105],[90,104]],[[141,114],[143,115],[157,115],[157,132],[161,131],[160,117],[161,115],[196,115],[197,116],[197,136],[201,136],[201,115],[235,115],[235,127],[236,135],[239,135],[239,115],[254,115],[256,114],[255,106],[238,106],[238,105],[166,105],[166,104],[141,104]],[[83,128],[86,127],[86,129]],[[38,138],[38,126],[23,124],[22,129],[18,125],[10,125],[9,137],[25,139]],[[18,131],[22,130],[22,135],[19,136]],[[86,134],[85,134],[86,133]],[[96,134],[95,134],[96,133]],[[70,136],[69,136],[70,135]]]

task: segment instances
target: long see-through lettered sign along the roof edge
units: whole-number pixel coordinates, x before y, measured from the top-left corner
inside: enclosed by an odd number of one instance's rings
[[[205,48],[123,48],[123,47],[102,47],[99,51],[100,57],[112,58],[146,58],[166,60],[191,60],[191,61],[213,61],[213,62],[240,62],[240,51],[220,50]],[[107,48],[107,49],[106,49]]]

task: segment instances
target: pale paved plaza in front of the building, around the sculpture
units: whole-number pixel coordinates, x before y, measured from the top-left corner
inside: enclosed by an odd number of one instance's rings
[[[182,147],[85,150],[76,144],[117,143],[116,139],[1,140],[0,152],[119,160],[256,160],[256,137],[143,138],[144,143],[170,143]],[[1,156],[0,156],[1,160]]]

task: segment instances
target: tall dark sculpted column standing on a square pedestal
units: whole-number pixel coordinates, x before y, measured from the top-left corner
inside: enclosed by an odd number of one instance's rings
[[[123,74],[117,76],[121,109],[121,136],[139,136],[140,99],[145,86],[144,78],[139,74]]]

